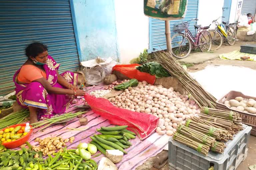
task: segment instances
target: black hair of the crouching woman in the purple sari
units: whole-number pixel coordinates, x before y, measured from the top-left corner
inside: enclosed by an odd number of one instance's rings
[[[48,50],[47,46],[40,43],[40,42],[33,42],[29,44],[25,51],[26,51],[26,56],[27,57],[36,57],[38,54],[41,54],[42,52]]]

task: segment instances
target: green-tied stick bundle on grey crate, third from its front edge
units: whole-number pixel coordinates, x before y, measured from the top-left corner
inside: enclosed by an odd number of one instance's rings
[[[193,117],[193,118],[196,118],[196,117]],[[227,130],[215,128],[215,127],[209,126],[209,125],[205,125],[205,124],[197,122],[197,120],[192,120],[192,119],[188,119],[186,121],[186,127],[195,129],[204,134],[209,134],[210,136],[215,137],[216,140],[218,140],[218,141],[228,141],[228,139],[230,138]]]

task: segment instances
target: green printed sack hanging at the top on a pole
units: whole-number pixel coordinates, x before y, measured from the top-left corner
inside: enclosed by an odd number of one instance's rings
[[[185,17],[187,0],[144,0],[144,14],[160,20],[177,20]]]

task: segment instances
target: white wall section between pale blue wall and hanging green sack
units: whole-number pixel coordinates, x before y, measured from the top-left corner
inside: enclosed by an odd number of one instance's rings
[[[120,61],[135,57],[149,44],[149,18],[143,12],[143,0],[114,0]]]

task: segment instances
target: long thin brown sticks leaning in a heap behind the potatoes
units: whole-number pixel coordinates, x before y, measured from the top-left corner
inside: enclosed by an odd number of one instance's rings
[[[154,53],[155,54],[155,53]],[[191,94],[198,106],[216,108],[216,98],[204,90],[204,88],[178,63],[169,52],[159,52],[155,54],[157,61],[176,78],[183,88]]]

